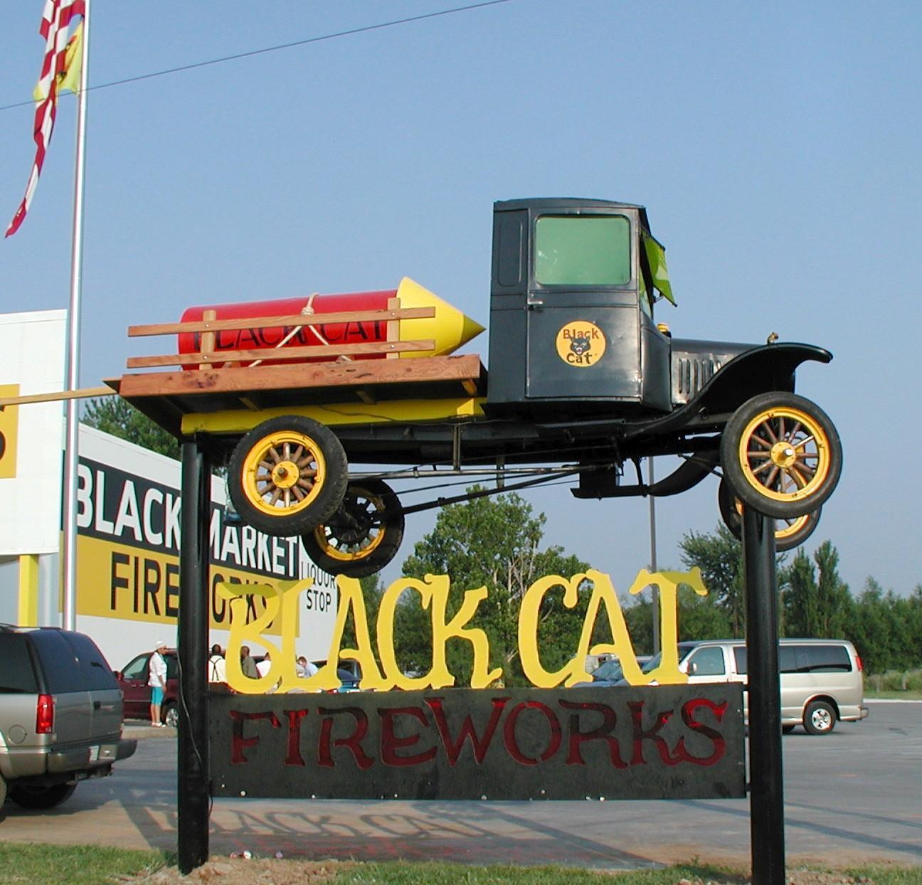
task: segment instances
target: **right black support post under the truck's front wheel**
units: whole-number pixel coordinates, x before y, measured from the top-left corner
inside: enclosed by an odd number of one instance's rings
[[[749,672],[752,885],[784,885],[785,785],[778,679],[774,519],[743,510],[746,656]]]

